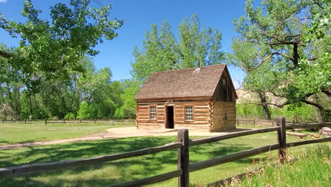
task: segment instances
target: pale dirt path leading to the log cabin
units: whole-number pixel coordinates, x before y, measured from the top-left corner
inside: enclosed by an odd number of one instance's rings
[[[234,131],[238,131],[238,129]],[[190,136],[215,136],[215,135],[226,135],[228,133],[229,132],[207,132],[202,130],[190,130]],[[168,130],[168,129],[141,130],[141,129],[136,129],[135,127],[110,128],[106,132],[99,132],[93,135],[87,135],[85,137],[76,137],[76,138],[69,138],[63,140],[47,140],[40,142],[26,142],[26,143],[13,144],[13,145],[1,145],[0,150],[14,149],[18,147],[32,147],[38,145],[54,145],[54,144],[62,144],[68,142],[86,141],[86,140],[105,140],[105,139],[113,139],[120,137],[175,136],[175,135],[177,135],[177,130]]]

